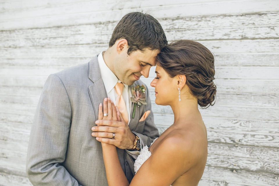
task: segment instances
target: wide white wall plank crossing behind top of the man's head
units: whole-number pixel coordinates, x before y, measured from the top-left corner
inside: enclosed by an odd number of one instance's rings
[[[73,24],[91,24],[96,22],[119,21],[128,12],[143,10],[151,13],[157,19],[163,17],[185,17],[196,15],[225,15],[253,12],[277,11],[278,1],[200,1],[197,3],[178,3],[164,1],[87,1],[80,3],[64,3],[61,5],[45,5],[40,8],[28,8],[28,11],[15,10],[2,12],[0,30],[18,28],[39,28],[66,26]],[[218,7],[218,8],[216,8]],[[174,13],[167,14],[166,12]],[[108,13],[109,12],[109,13]],[[106,15],[106,16],[100,16]],[[38,19],[40,17],[41,19]]]

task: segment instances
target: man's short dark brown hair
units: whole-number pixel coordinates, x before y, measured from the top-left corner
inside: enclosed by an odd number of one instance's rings
[[[130,12],[122,17],[112,33],[109,47],[119,39],[128,41],[128,55],[146,48],[160,51],[168,43],[158,20],[142,12]]]

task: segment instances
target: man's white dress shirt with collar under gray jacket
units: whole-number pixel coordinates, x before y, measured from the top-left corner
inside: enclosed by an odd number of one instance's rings
[[[107,91],[108,97],[110,97],[110,100],[115,103],[117,98],[117,93],[115,91],[115,85],[116,83],[121,83],[121,81],[115,76],[115,74],[108,68],[108,66],[105,64],[103,55],[103,52],[101,52],[98,55],[98,63],[101,71],[101,76],[105,85],[105,90]],[[123,83],[124,84],[124,83]],[[132,102],[130,101],[130,97],[132,96],[131,90],[129,89],[129,86],[124,84],[122,96],[124,98],[126,108],[128,111],[128,124],[130,122],[130,113],[132,109]],[[102,103],[103,104],[103,103]]]

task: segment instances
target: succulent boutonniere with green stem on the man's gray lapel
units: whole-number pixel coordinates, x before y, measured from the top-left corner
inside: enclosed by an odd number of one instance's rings
[[[142,104],[146,105],[145,90],[146,90],[146,87],[144,85],[141,85],[141,86],[137,85],[135,87],[132,87],[131,101],[133,103],[135,103],[132,118],[135,117],[136,105],[138,105],[138,107]]]

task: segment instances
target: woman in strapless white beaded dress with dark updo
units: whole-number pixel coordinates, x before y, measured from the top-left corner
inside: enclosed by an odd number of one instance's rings
[[[207,108],[215,101],[214,56],[192,40],[171,42],[157,56],[155,103],[170,105],[174,123],[135,162],[136,174],[130,185],[198,185],[207,160],[207,132],[198,105]],[[117,108],[106,99],[99,106],[120,120]],[[99,138],[96,138],[99,140]],[[116,147],[102,143],[108,185],[129,185],[120,166]],[[139,168],[140,167],[140,168]]]

